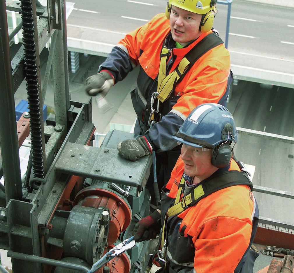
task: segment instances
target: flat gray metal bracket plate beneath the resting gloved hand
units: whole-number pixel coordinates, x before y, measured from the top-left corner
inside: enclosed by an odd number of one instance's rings
[[[113,131],[108,134],[116,140],[119,136],[121,140],[126,139],[126,133],[117,130],[115,132],[114,135]],[[128,138],[135,137],[133,134],[128,135]],[[152,156],[145,156],[133,162],[122,158],[116,148],[107,146],[97,148],[68,142],[55,165],[55,170],[57,173],[136,187],[138,195],[145,187],[150,174]]]

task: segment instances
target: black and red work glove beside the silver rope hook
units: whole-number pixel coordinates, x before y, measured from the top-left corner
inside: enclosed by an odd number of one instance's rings
[[[151,215],[148,215],[136,223],[133,233],[136,242],[155,239],[161,229],[161,214],[155,210]]]

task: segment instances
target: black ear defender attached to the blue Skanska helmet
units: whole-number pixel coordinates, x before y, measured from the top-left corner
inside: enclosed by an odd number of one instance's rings
[[[226,142],[229,138],[229,134],[232,134],[233,125],[230,123],[225,124],[222,130],[222,139],[225,141],[220,143],[213,149],[213,155],[211,157],[211,164],[218,169],[225,168],[229,165],[232,157],[232,148],[230,144]]]

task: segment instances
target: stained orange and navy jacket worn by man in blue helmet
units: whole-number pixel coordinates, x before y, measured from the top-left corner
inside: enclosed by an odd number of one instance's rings
[[[227,170],[240,171],[234,160],[217,172]],[[168,184],[163,188],[162,222],[168,208],[174,204],[183,172],[183,161],[179,158]],[[256,233],[258,217],[255,198],[247,185],[213,192],[196,205],[169,217],[167,272],[242,272],[249,245]]]

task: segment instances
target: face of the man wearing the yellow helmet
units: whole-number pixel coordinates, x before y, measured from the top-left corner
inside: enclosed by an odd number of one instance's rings
[[[199,25],[202,15],[172,6],[170,15],[171,35],[182,46],[196,40],[201,31]]]

